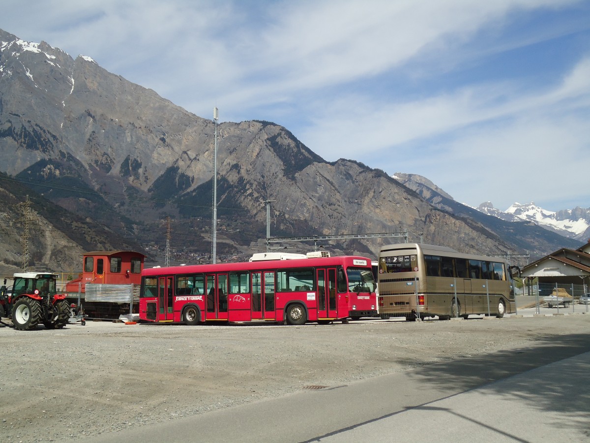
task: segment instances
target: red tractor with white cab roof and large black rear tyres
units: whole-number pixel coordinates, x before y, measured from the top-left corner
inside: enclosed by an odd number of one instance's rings
[[[63,328],[70,319],[70,305],[64,294],[56,294],[58,274],[21,272],[14,274],[12,290],[6,279],[0,295],[0,317],[12,318],[14,328],[35,329],[39,323],[48,329]]]

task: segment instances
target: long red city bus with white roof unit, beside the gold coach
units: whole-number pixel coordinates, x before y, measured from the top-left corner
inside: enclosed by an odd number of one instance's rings
[[[377,316],[370,259],[294,256],[261,253],[242,263],[143,269],[139,319],[300,325]]]

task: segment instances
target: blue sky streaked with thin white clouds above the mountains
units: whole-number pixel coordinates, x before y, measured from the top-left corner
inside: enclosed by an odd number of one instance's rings
[[[590,207],[590,1],[0,0],[46,41],[204,118],[506,210]]]

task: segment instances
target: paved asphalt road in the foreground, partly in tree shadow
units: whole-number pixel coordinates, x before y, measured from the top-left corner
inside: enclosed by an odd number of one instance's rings
[[[87,441],[584,441],[589,382],[588,334],[573,334]]]

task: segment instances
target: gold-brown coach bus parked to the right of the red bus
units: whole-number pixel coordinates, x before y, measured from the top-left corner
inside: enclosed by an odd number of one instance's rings
[[[398,243],[382,246],[378,262],[381,318],[503,317],[516,310],[514,284],[504,259],[444,246]]]

